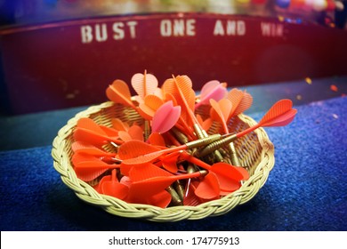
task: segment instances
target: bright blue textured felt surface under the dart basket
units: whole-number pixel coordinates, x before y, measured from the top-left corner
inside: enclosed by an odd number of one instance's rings
[[[346,105],[347,98],[337,98],[298,106],[292,124],[266,128],[276,157],[269,180],[245,205],[200,221],[113,216],[86,205],[62,183],[52,147],[0,152],[0,229],[346,230]]]

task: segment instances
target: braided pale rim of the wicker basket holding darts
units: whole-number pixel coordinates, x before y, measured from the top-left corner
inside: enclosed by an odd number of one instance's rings
[[[170,206],[160,208],[153,205],[128,204],[116,197],[110,197],[99,194],[92,186],[85,181],[77,178],[73,166],[70,163],[69,155],[64,150],[66,140],[76,126],[77,120],[81,117],[88,117],[97,114],[102,109],[110,108],[114,105],[112,101],[106,101],[99,105],[93,105],[76,114],[69,119],[59,130],[57,136],[52,141],[53,167],[60,173],[61,181],[72,189],[77,197],[91,205],[100,206],[106,212],[117,216],[144,219],[148,221],[182,221],[198,220],[207,216],[217,216],[230,212],[238,205],[245,204],[251,200],[255,194],[262,188],[268,179],[269,173],[274,166],[274,147],[267,133],[258,128],[254,131],[259,142],[262,143],[262,160],[256,166],[254,174],[244,182],[240,189],[218,200],[209,201],[197,206]],[[243,122],[255,124],[256,122],[250,116],[240,114],[239,119]]]

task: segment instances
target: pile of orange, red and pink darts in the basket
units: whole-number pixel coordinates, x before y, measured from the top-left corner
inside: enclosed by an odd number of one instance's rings
[[[131,204],[191,206],[229,195],[249,178],[233,141],[259,127],[289,124],[296,114],[291,100],[279,100],[259,123],[233,133],[230,120],[253,102],[246,91],[213,80],[197,95],[188,76],[172,76],[158,87],[146,71],[131,79],[137,95],[129,85],[117,79],[106,95],[142,122],[115,117],[106,126],[80,118],[72,164],[100,194]]]

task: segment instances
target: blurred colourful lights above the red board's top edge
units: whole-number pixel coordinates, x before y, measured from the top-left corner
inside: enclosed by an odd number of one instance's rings
[[[245,14],[338,28],[345,28],[346,18],[343,0],[2,0],[0,4],[2,26],[155,12]]]

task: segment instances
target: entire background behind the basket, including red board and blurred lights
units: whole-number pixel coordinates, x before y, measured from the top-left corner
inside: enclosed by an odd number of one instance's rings
[[[52,144],[145,69],[254,96],[248,112],[344,97],[345,0],[0,0],[0,149]]]

